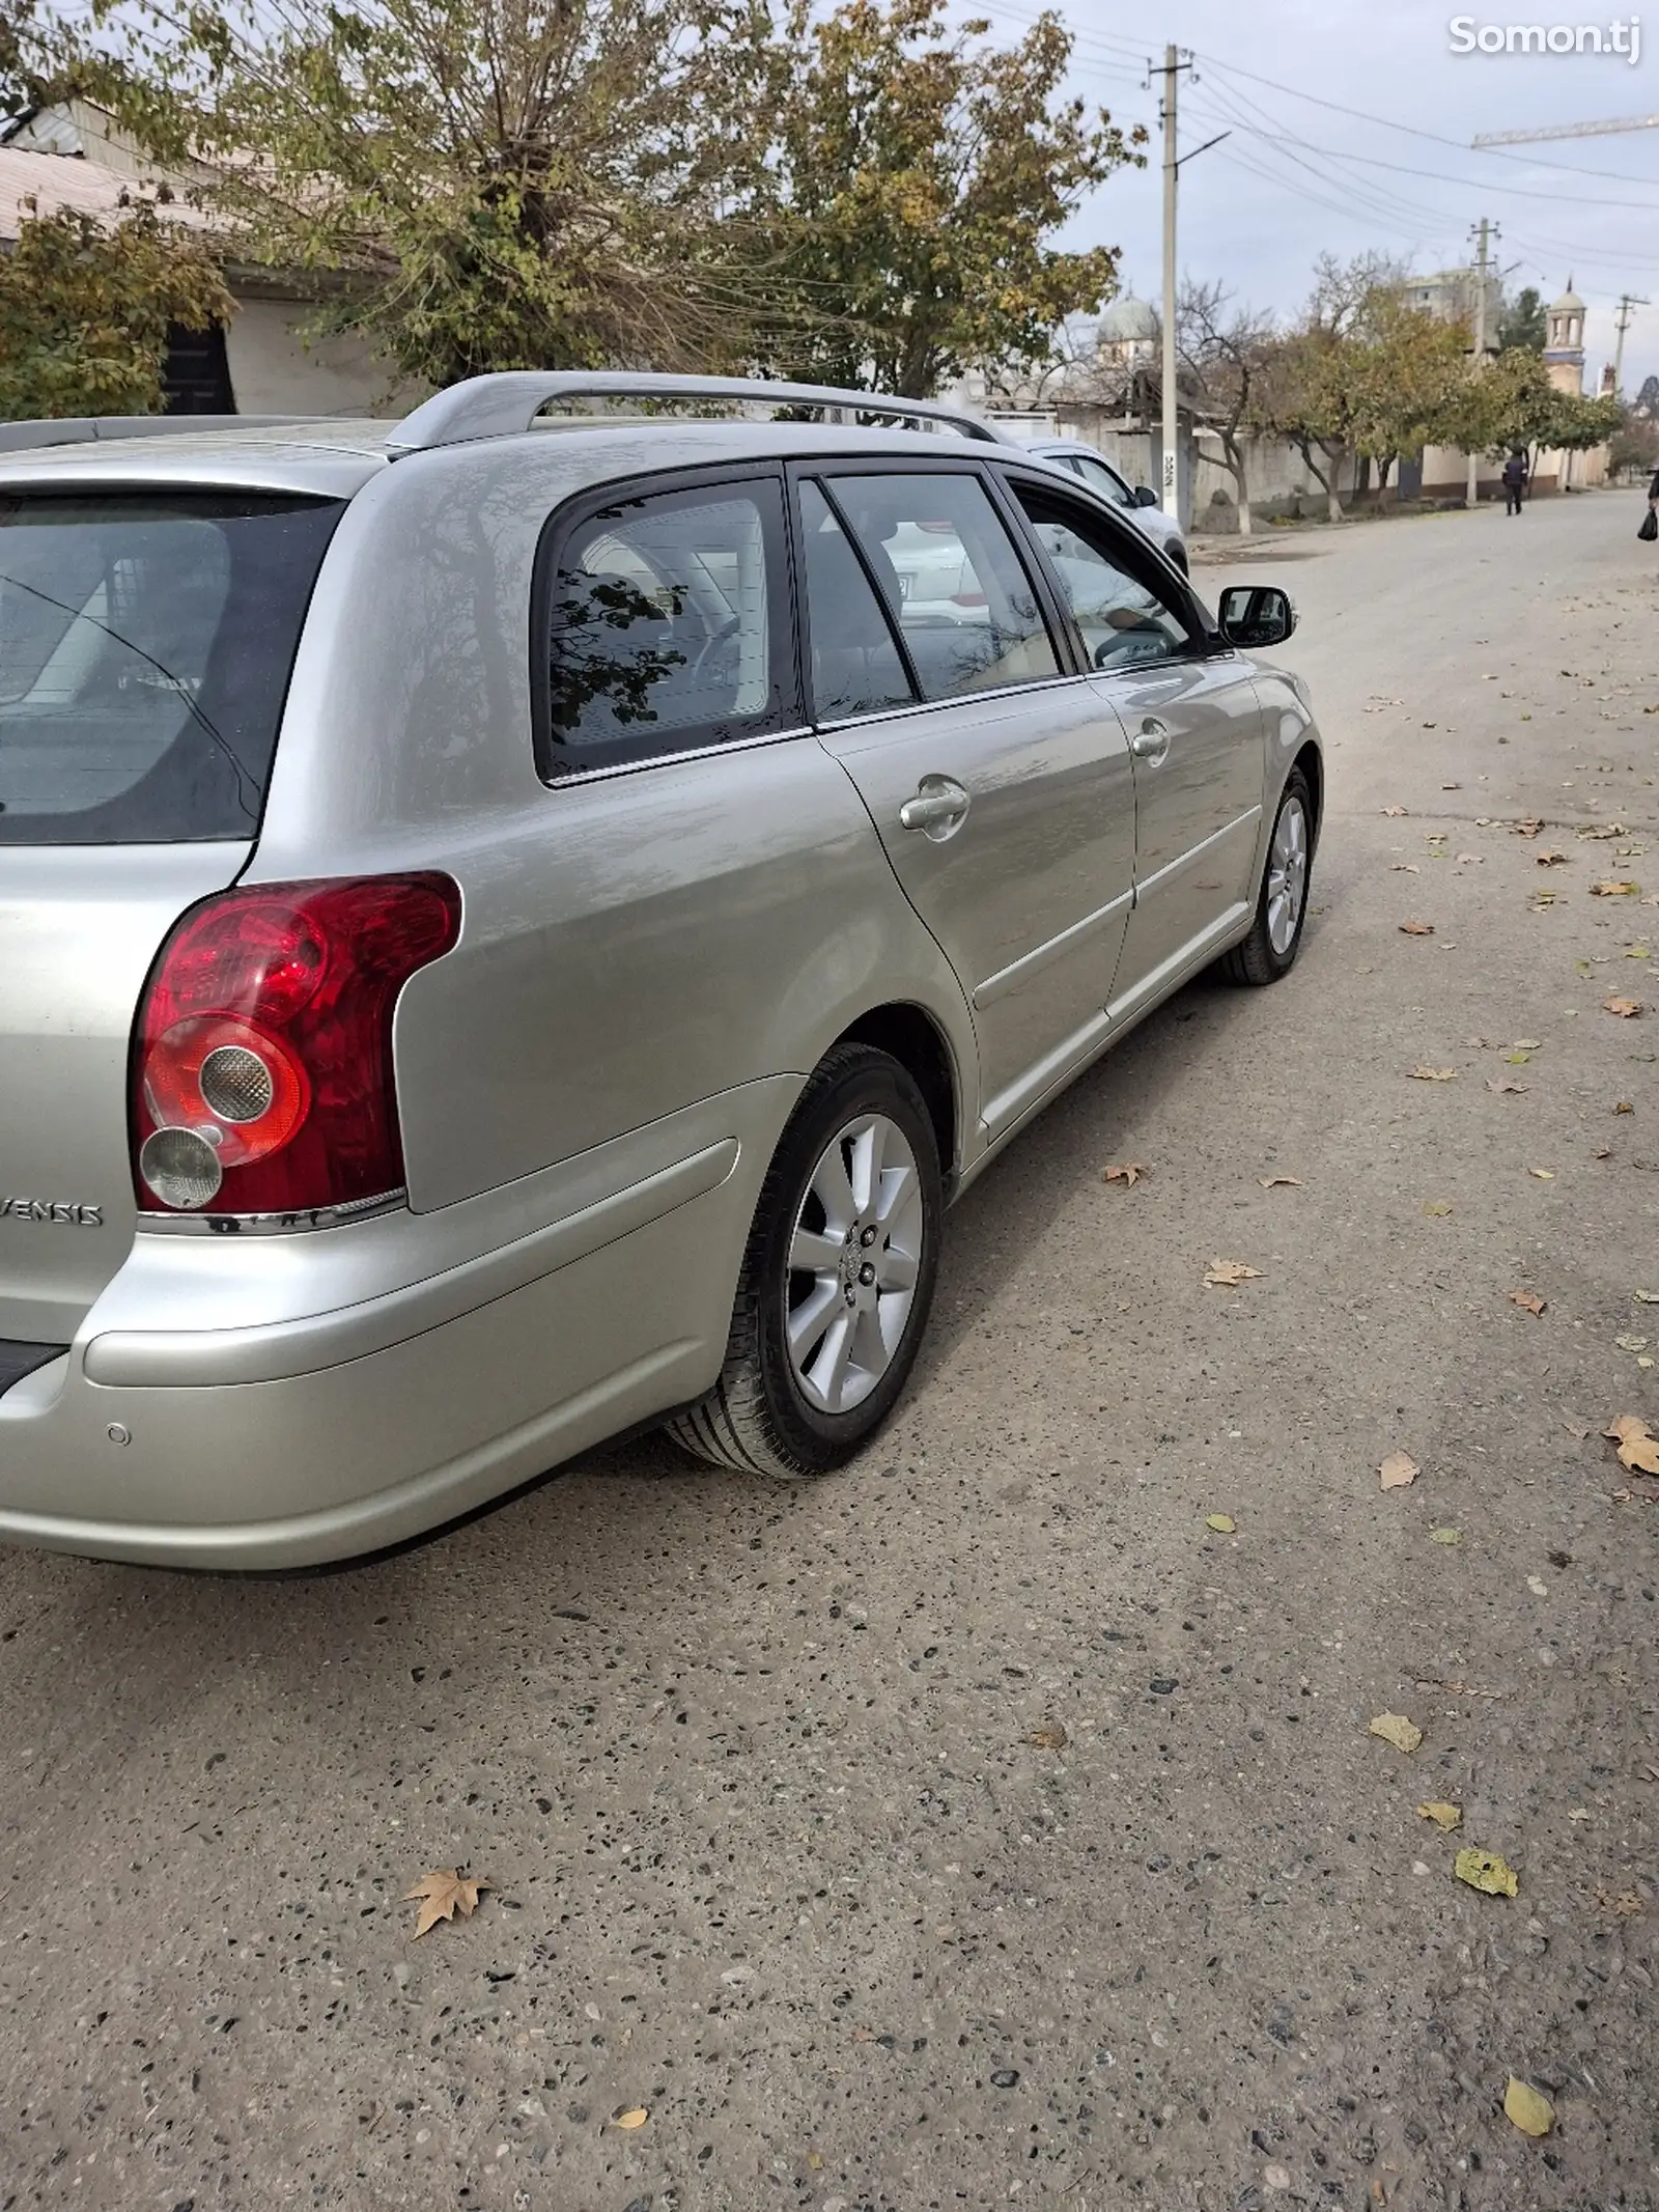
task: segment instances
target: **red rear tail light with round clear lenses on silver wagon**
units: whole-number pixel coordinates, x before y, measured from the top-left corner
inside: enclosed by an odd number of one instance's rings
[[[290,1214],[403,1188],[398,991],[460,931],[449,876],[261,883],[188,914],[133,1053],[144,1212]]]

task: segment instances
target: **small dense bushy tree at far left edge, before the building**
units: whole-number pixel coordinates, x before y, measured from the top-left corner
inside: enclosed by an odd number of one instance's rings
[[[230,314],[212,252],[150,201],[27,215],[0,254],[0,420],[159,414],[168,325]]]

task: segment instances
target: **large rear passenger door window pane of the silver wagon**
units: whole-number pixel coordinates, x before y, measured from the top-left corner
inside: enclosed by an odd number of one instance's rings
[[[1057,675],[1037,595],[975,476],[834,476],[927,699]]]

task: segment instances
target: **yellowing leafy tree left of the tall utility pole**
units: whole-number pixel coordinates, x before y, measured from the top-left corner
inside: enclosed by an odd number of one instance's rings
[[[1117,290],[1115,248],[1044,241],[1146,133],[1057,100],[1057,15],[1009,49],[987,29],[947,0],[794,0],[768,175],[799,367],[920,398],[973,363],[1051,358],[1064,319]]]

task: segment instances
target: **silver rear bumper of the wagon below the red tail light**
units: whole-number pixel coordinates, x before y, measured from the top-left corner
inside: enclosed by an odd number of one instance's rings
[[[796,1088],[710,1102],[728,1108],[712,1146],[458,1267],[321,1312],[248,1318],[246,1270],[276,1301],[283,1265],[312,1263],[292,1250],[301,1239],[150,1239],[192,1250],[135,1248],[75,1345],[0,1394],[0,1540],[314,1566],[436,1528],[684,1405],[719,1371],[768,1133]],[[323,1232],[358,1239],[336,1248],[347,1274],[372,1228]],[[228,1327],[131,1325],[168,1312],[135,1294],[146,1267],[155,1292],[168,1267],[215,1261]]]

